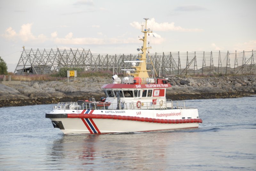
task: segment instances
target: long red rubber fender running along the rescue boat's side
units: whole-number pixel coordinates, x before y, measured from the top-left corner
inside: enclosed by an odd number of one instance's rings
[[[135,120],[141,122],[154,122],[154,123],[202,123],[202,119],[155,119],[143,118],[136,116],[121,116],[121,115],[106,115],[106,114],[76,114],[69,113],[68,118],[92,118],[92,119],[118,119],[118,120]]]

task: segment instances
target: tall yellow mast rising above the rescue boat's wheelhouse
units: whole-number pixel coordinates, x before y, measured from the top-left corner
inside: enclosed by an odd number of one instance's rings
[[[146,58],[146,54],[147,54],[147,49],[151,49],[151,47],[147,47],[147,35],[149,33],[152,33],[152,31],[149,31],[149,29],[147,29],[147,20],[148,18],[144,18],[146,23],[145,23],[145,27],[142,27],[141,32],[144,33],[143,38],[139,39],[143,41],[143,46],[140,48],[140,50],[142,51],[141,53],[139,53],[139,57],[137,58],[137,60],[139,61],[143,61],[139,63],[139,66],[133,66],[136,68],[135,73],[131,74],[134,77],[140,77],[142,79],[142,83],[146,82],[146,78],[149,78],[148,76],[148,71],[147,70],[147,58]]]

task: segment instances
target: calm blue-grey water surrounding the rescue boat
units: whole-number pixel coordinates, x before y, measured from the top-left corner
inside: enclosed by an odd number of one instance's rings
[[[0,170],[256,170],[256,97],[187,100],[199,128],[63,135],[52,105],[0,108]]]

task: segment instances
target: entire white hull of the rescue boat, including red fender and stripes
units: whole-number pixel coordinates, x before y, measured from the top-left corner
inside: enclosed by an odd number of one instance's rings
[[[58,112],[67,118],[48,118],[53,121],[53,125],[61,121],[62,126],[57,128],[60,128],[64,134],[108,134],[198,128],[201,122],[201,119],[198,119],[197,109],[114,110],[111,114],[105,113],[106,111],[84,110],[81,113],[75,111],[72,113],[66,110],[65,114],[64,110],[55,110],[48,116],[56,115]]]

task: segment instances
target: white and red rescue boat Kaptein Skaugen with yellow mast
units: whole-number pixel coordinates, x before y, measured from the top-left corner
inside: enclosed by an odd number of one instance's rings
[[[173,104],[166,99],[166,89],[172,87],[167,79],[153,78],[147,70],[147,35],[152,33],[145,27],[143,46],[138,58],[130,62],[132,69],[124,69],[124,78],[113,75],[112,84],[101,88],[106,97],[99,102],[80,100],[60,102],[45,114],[52,120],[54,128],[64,134],[111,134],[125,132],[159,131],[180,128],[198,128],[202,120],[196,108]]]

